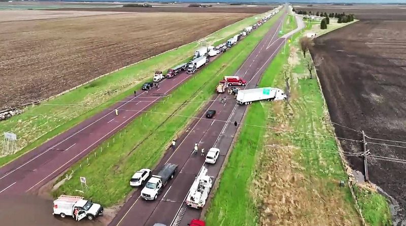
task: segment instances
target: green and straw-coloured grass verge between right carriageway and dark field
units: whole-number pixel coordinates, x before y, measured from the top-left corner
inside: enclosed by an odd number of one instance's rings
[[[289,102],[249,107],[248,125],[229,156],[208,224],[360,225],[350,188],[339,186],[347,175],[335,140],[328,137],[334,134],[323,120],[327,109],[317,80],[300,69],[298,37],[260,82],[262,87],[289,84]]]

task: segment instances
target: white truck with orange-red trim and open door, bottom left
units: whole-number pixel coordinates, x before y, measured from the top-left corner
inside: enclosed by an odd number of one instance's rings
[[[61,195],[58,199],[54,200],[53,215],[59,215],[64,218],[65,216],[74,216],[75,207],[79,210],[78,220],[85,217],[93,220],[94,217],[103,215],[103,207],[99,204],[92,203],[84,200],[80,196],[65,196]]]

